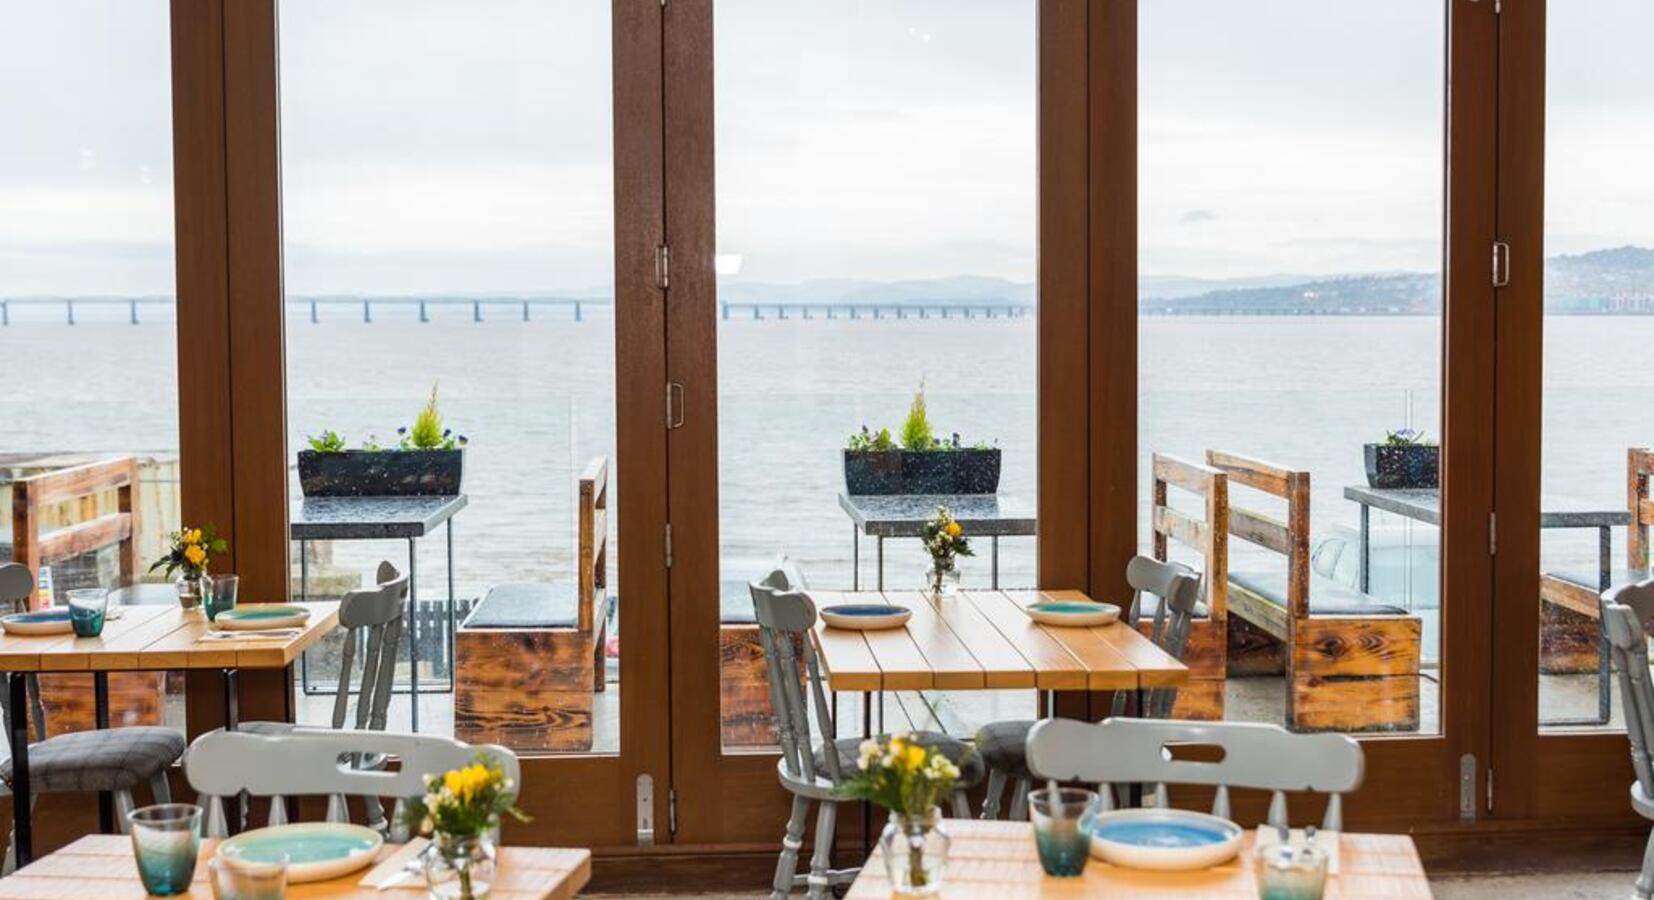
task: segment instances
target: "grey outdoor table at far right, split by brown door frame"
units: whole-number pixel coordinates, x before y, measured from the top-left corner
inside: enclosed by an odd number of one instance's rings
[[[1348,485],[1345,500],[1361,506],[1361,539],[1360,539],[1360,586],[1368,591],[1371,551],[1371,515],[1373,510],[1394,513],[1413,521],[1441,528],[1441,495],[1436,488],[1370,488],[1366,485]],[[1613,587],[1613,531],[1631,524],[1631,513],[1626,510],[1555,510],[1540,511],[1540,528],[1594,528],[1598,553],[1598,586],[1608,591]],[[1437,615],[1441,612],[1437,610]],[[1613,713],[1613,685],[1609,673],[1608,635],[1596,637],[1596,718],[1555,718],[1540,720],[1540,725],[1606,725]]]

